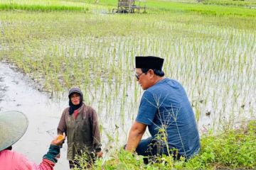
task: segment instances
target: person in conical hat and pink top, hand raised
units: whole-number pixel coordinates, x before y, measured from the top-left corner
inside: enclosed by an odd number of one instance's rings
[[[43,156],[41,164],[27,159],[23,154],[12,151],[14,145],[26,132],[28,119],[18,111],[0,113],[0,170],[53,170],[57,163],[57,155],[63,139],[55,137],[50,143],[47,154]]]

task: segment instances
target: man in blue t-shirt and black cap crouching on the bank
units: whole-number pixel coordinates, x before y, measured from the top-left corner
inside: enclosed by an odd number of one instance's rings
[[[164,77],[163,63],[159,57],[136,57],[135,76],[145,91],[125,149],[146,157],[188,159],[200,149],[195,116],[183,86]],[[151,137],[142,140],[146,127]]]

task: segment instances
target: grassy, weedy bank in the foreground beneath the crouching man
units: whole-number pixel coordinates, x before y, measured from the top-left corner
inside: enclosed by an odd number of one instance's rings
[[[201,137],[201,151],[192,159],[174,161],[163,156],[150,164],[143,157],[124,150],[117,151],[110,159],[97,160],[93,169],[255,169],[256,168],[256,121],[239,129],[208,132]],[[80,157],[80,163],[83,158]]]

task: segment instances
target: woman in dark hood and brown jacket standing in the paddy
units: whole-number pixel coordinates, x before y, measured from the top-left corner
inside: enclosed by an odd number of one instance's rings
[[[69,107],[63,111],[57,132],[67,135],[70,169],[80,167],[75,156],[82,154],[87,156],[87,167],[90,167],[95,157],[102,157],[97,113],[82,102],[82,91],[78,87],[70,89],[68,98]]]

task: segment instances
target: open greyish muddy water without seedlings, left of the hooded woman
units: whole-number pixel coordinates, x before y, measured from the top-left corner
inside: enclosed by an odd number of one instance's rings
[[[6,64],[0,63],[0,111],[21,111],[28,117],[29,125],[25,135],[13,145],[14,150],[25,154],[40,164],[50,141],[56,135],[56,128],[67,101],[53,101],[33,87],[32,82]],[[66,145],[61,150],[55,169],[68,169]]]

